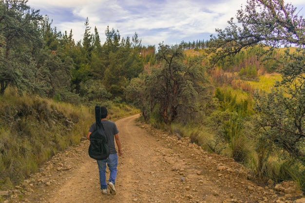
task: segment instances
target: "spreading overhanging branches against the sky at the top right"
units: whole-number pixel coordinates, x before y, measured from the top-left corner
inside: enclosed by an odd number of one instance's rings
[[[284,4],[283,0],[247,0],[247,5],[237,11],[237,22],[231,18],[229,27],[216,29],[217,36],[210,41],[211,62],[233,59],[241,50],[260,45],[264,55],[275,47],[305,43],[305,20],[298,16],[297,8]],[[221,49],[219,49],[221,48]]]

